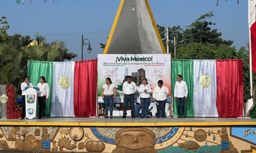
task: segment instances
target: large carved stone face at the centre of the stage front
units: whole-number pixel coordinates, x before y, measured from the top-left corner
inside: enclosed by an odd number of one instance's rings
[[[138,150],[145,147],[154,147],[154,138],[145,131],[126,131],[120,134],[116,146]]]

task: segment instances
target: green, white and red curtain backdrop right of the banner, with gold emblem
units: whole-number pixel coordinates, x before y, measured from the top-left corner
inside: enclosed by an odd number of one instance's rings
[[[172,94],[174,94],[178,74],[183,76],[183,81],[187,83],[188,87],[188,97],[185,100],[185,116],[243,116],[242,59],[172,59]],[[177,101],[174,98],[173,100],[174,116],[177,116]]]

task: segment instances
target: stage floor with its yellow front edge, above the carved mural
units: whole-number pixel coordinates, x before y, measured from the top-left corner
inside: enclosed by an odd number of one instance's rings
[[[58,118],[45,119],[0,119],[0,125],[27,125],[27,126],[218,126],[218,125],[256,125],[252,118]]]

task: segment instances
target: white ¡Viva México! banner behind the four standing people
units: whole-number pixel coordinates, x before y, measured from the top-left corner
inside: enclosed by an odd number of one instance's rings
[[[153,102],[152,94],[157,87],[158,80],[163,81],[163,85],[169,89],[167,103],[171,101],[171,60],[167,54],[139,54],[139,55],[98,55],[98,102],[103,103],[101,97],[102,85],[106,78],[110,78],[116,86],[117,95],[114,103],[123,103],[124,93],[122,84],[127,81],[127,77],[136,84],[135,102],[140,102],[138,88],[142,80],[147,78],[151,86],[150,101]]]

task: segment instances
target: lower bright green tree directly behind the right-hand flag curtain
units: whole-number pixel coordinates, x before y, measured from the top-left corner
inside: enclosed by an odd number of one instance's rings
[[[250,78],[249,78],[249,56],[245,47],[238,51],[235,47],[228,45],[192,43],[180,46],[177,59],[243,59],[243,86],[244,102],[250,98]],[[253,74],[253,86],[256,85],[256,74]]]

